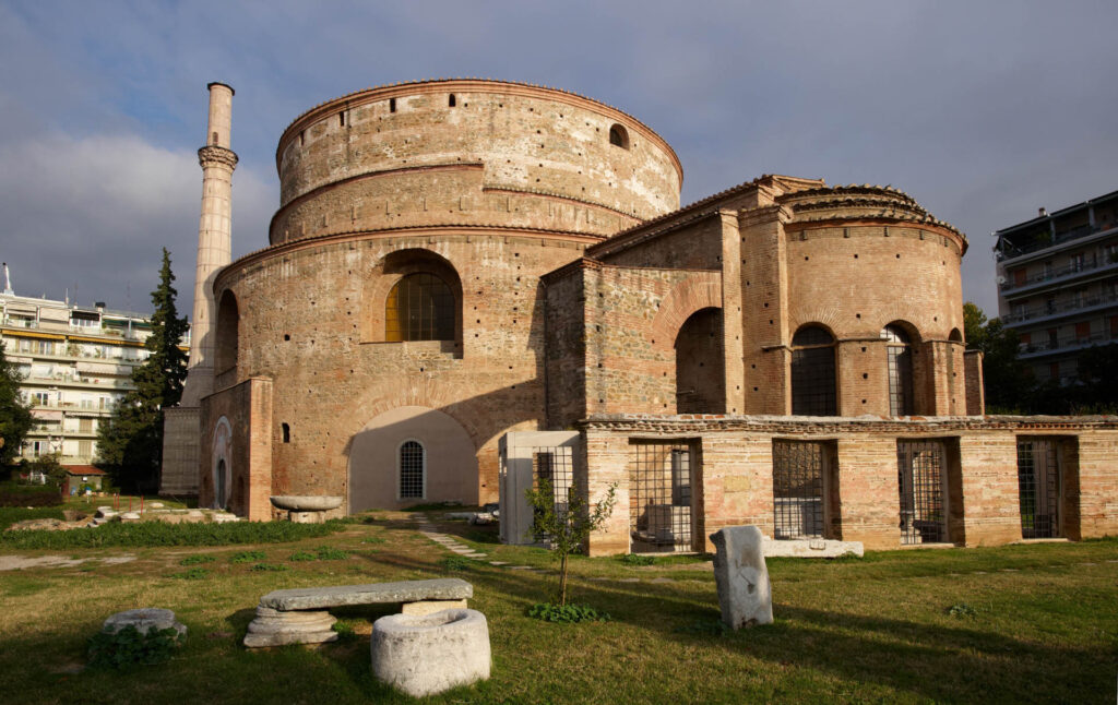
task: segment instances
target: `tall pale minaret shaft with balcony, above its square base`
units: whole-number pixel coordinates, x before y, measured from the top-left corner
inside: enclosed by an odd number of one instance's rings
[[[202,168],[202,212],[198,222],[198,267],[195,270],[195,311],[191,317],[190,363],[183,407],[197,407],[214,391],[214,277],[231,261],[233,170],[237,154],[229,149],[233,88],[211,83],[206,146],[198,150]]]

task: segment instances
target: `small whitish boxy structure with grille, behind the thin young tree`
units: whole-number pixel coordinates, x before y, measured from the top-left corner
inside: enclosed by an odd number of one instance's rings
[[[525,493],[542,476],[551,483],[556,502],[566,502],[578,446],[578,431],[515,431],[501,438],[501,543],[534,543]]]

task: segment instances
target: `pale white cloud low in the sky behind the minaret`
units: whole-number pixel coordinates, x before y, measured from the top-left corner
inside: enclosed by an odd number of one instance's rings
[[[269,193],[249,170],[234,174],[234,228],[266,242]],[[190,309],[201,199],[197,155],[134,135],[42,135],[0,145],[0,257],[16,292],[150,308],[160,248],[171,250],[180,311]],[[254,244],[255,242],[255,244]],[[236,254],[236,253],[235,253]]]

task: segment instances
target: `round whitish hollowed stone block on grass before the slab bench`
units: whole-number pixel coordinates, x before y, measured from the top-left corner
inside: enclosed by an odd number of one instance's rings
[[[434,695],[489,678],[489,623],[468,609],[390,615],[373,622],[370,652],[378,679],[413,697]]]

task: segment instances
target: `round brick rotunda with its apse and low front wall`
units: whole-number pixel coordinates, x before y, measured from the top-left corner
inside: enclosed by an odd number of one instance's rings
[[[501,496],[520,541],[528,484],[616,486],[594,553],[732,524],[873,547],[1118,530],[1116,420],[982,416],[967,240],[901,191],[764,175],[680,208],[639,121],[476,79],[323,103],[276,168],[268,247],[215,269],[196,331],[203,505]]]

